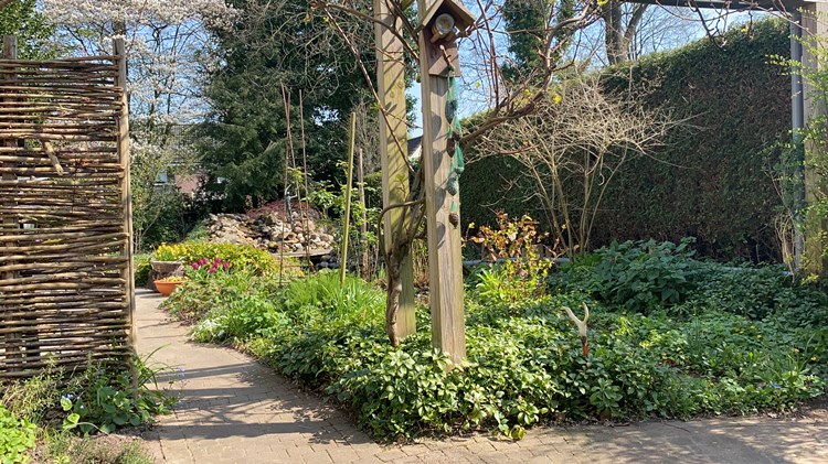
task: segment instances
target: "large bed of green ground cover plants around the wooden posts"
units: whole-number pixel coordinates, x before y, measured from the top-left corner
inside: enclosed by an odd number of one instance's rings
[[[198,300],[197,341],[252,353],[335,397],[389,441],[480,429],[517,439],[539,422],[787,411],[822,395],[824,294],[781,268],[693,260],[689,245],[608,247],[553,270],[545,294],[517,301],[480,299],[470,281],[461,366],[432,348],[425,309],[418,332],[392,347],[382,290],[355,278],[343,288],[326,273],[284,288],[268,279],[225,280],[220,290],[193,282],[164,304],[190,314],[189,299]],[[229,296],[233,285],[238,298]],[[586,356],[562,311],[583,304]]]

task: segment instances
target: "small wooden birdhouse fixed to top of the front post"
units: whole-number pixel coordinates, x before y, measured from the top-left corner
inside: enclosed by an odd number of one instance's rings
[[[457,36],[466,36],[475,15],[459,0],[436,0],[423,15],[422,31],[428,57],[428,74],[447,76],[449,63],[460,75]],[[422,53],[422,52],[421,52]]]

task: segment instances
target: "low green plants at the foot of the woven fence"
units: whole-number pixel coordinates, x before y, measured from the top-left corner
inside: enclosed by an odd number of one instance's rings
[[[85,369],[49,367],[0,386],[0,462],[151,463],[137,442],[110,435],[150,424],[176,401],[157,381],[163,367],[134,362],[137,392],[129,371],[92,359]]]

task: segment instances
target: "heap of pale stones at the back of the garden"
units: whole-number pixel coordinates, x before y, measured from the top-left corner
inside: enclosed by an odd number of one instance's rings
[[[253,245],[270,252],[328,255],[333,236],[311,218],[293,212],[290,220],[276,213],[256,217],[244,214],[213,214],[208,219],[210,241]]]

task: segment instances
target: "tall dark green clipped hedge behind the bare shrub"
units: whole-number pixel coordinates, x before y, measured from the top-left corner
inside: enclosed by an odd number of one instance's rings
[[[771,147],[788,137],[790,79],[768,56],[789,53],[787,26],[762,21],[605,72],[607,88],[644,95],[686,123],[652,158],[616,174],[602,203],[593,247],[613,239],[678,241],[694,236],[699,251],[716,258],[777,259],[773,216],[779,204]],[[463,175],[464,220],[488,224],[490,211],[534,212],[510,181],[509,160],[470,163]]]

